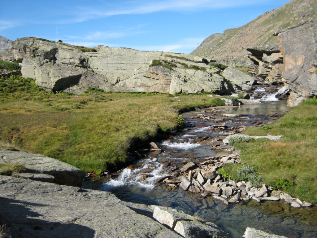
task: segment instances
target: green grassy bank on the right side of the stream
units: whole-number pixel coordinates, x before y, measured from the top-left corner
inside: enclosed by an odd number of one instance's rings
[[[302,200],[317,202],[317,99],[290,108],[277,122],[250,128],[250,136],[282,135],[280,141],[258,139],[235,143],[244,164],[257,168],[267,185],[282,188]],[[239,166],[224,169],[235,177]]]

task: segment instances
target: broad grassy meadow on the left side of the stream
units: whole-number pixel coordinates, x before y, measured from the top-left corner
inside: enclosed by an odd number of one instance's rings
[[[49,93],[32,79],[1,79],[0,146],[38,153],[100,173],[123,166],[127,152],[183,124],[179,111],[220,106],[208,95]],[[95,96],[90,96],[95,95]]]

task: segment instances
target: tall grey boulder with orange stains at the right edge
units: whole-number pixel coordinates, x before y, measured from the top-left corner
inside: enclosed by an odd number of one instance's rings
[[[284,56],[282,77],[295,94],[288,100],[291,106],[317,95],[316,32],[317,20],[310,20],[275,33]]]

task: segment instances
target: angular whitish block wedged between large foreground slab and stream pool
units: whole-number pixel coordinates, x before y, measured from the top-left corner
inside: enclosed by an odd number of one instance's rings
[[[153,218],[161,224],[174,228],[178,221],[192,221],[193,217],[174,208],[151,205],[154,209]]]

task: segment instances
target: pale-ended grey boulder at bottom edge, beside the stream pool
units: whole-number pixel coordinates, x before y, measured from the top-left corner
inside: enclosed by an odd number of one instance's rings
[[[210,226],[199,221],[178,221],[174,230],[185,238],[225,238],[228,237],[216,225]]]

